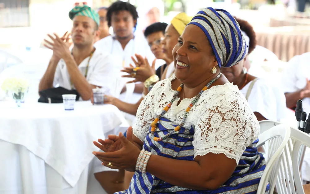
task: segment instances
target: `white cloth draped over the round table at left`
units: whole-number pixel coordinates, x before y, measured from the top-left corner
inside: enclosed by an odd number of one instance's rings
[[[126,121],[115,106],[93,106],[89,101],[77,102],[73,111],[65,111],[63,104],[25,103],[17,107],[15,102],[0,102],[0,139],[25,147],[71,187],[87,170],[94,158],[92,151],[99,150],[92,142],[115,133],[113,129],[122,122]],[[20,170],[21,175],[27,174]],[[2,177],[6,173],[10,172],[0,172]],[[33,174],[31,170],[28,173]]]

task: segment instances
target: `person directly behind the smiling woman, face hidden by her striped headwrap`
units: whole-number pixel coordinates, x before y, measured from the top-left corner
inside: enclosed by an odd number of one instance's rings
[[[256,46],[254,29],[247,21],[238,18],[235,19],[240,25],[246,44],[249,45],[248,54],[250,54]],[[230,68],[222,68],[221,73],[225,75],[229,82],[233,82],[234,85],[238,86],[241,93],[246,97],[246,100],[258,121],[280,120],[281,112],[279,112],[278,104],[281,102],[281,99],[277,98],[269,83],[260,80],[247,72],[247,63],[250,62],[248,58],[245,57]],[[284,95],[282,93],[280,95],[283,102],[282,104],[280,103],[280,106],[282,106],[282,111],[286,111]]]

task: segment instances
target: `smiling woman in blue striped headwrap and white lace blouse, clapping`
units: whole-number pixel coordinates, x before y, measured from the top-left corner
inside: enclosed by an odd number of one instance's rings
[[[227,11],[208,7],[194,16],[173,49],[175,75],[144,98],[127,139],[95,142],[105,166],[135,171],[119,193],[256,193],[265,169],[259,123],[219,71],[245,55]]]

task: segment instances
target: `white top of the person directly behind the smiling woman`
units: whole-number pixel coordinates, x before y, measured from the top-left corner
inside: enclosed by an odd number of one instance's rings
[[[250,81],[240,91],[246,96]],[[253,112],[259,112],[263,117],[272,121],[279,121],[286,116],[286,99],[283,92],[273,88],[270,84],[258,79],[251,90],[248,103]]]

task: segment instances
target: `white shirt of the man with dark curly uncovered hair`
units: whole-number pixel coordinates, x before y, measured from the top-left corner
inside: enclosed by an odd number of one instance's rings
[[[131,56],[135,57],[135,54],[146,57],[150,65],[152,65],[152,62],[155,59],[155,56],[144,37],[135,37],[134,39],[131,39],[125,46],[125,49],[123,49],[121,43],[112,36],[102,38],[95,42],[94,46],[104,53],[111,54],[113,56],[114,67],[119,70],[123,69],[123,61],[125,61],[124,67],[129,67],[129,64],[135,66],[135,63],[131,59]],[[162,60],[157,61],[157,63],[164,64]],[[158,65],[160,66],[161,64],[157,64],[156,66],[159,67]],[[155,67],[155,69],[157,69],[157,67]]]

